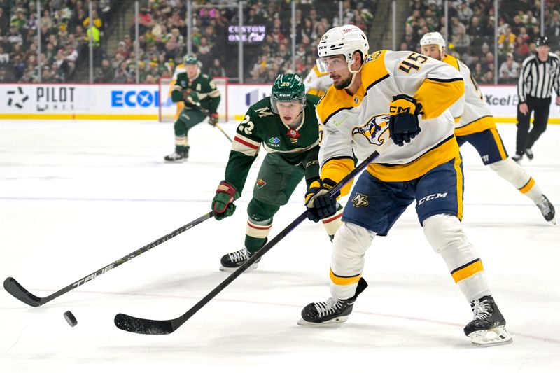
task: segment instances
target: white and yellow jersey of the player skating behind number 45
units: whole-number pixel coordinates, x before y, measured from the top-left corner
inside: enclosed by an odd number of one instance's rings
[[[451,108],[451,113],[456,119],[455,135],[465,136],[496,128],[490,108],[484,102],[482,92],[480,92],[475,78],[472,78],[468,66],[451,55],[446,55],[443,62],[457,69],[465,81],[463,110],[456,108],[455,105]]]

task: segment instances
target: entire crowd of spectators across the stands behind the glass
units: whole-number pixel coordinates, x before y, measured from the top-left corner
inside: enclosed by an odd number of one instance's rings
[[[38,42],[41,34],[41,81],[76,80],[76,67],[89,51],[88,0],[41,1],[37,20],[36,1],[0,0],[0,82],[38,81]],[[96,82],[134,83],[134,24],[118,41],[116,50],[105,54],[100,41],[106,37],[111,6],[115,0],[91,0],[93,13]],[[560,0],[545,1],[545,35],[551,50],[560,49]],[[111,3],[113,2],[113,3]],[[291,4],[288,0],[248,0],[244,24],[264,25],[264,39],[244,43],[244,80],[270,83],[279,73],[302,76],[314,66],[316,45],[330,27],[353,23],[370,31],[377,0],[344,0],[343,19],[338,2],[325,6],[321,0],[298,0],[293,69]],[[140,0],[139,81],[155,83],[170,78],[186,55],[186,2]],[[534,52],[540,34],[540,1],[500,0],[498,50],[494,50],[493,0],[448,1],[449,23],[444,29],[443,0],[411,0],[405,36],[398,49],[419,50],[419,40],[429,31],[448,35],[448,52],[470,67],[479,83],[494,82],[494,55],[498,55],[498,82],[515,83],[523,60]],[[129,4],[130,5],[130,4]],[[237,78],[237,42],[228,41],[228,27],[238,24],[237,1],[193,1],[193,54],[202,71],[211,76]],[[39,22],[38,22],[39,21]],[[39,26],[40,24],[40,26]],[[234,33],[235,34],[235,33]]]

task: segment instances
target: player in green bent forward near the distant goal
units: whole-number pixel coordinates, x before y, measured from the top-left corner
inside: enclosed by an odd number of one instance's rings
[[[209,124],[218,122],[218,105],[220,91],[210,76],[200,73],[198,59],[185,57],[186,73],[179,73],[172,90],[173,102],[183,101],[185,108],[177,118],[175,128],[175,151],[164,157],[165,162],[178,163],[188,158],[188,130],[195,127],[207,117],[201,111],[209,111]]]

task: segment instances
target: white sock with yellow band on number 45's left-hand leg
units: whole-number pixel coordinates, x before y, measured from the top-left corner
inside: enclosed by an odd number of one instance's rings
[[[332,241],[330,262],[330,293],[338,299],[348,299],[356,293],[362,276],[364,255],[375,233],[353,223],[342,223]]]

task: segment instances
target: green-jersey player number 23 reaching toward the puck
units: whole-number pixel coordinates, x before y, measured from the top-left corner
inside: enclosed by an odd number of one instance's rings
[[[302,178],[309,185],[319,178],[319,126],[315,114],[318,97],[305,94],[302,78],[283,74],[276,78],[272,96],[251,106],[241,121],[232,143],[225,180],[218,185],[212,200],[216,219],[231,216],[233,202],[241,196],[248,171],[260,146],[267,155],[258,172],[249,202],[245,247],[226,254],[220,269],[233,271],[243,265],[267,241],[272,218],[288,199]],[[304,196],[302,196],[303,199]],[[342,207],[323,219],[331,236],[342,224]],[[257,267],[255,263],[251,268]]]

